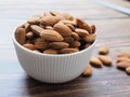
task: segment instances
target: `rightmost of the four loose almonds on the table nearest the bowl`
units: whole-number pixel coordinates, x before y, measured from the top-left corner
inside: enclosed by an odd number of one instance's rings
[[[103,65],[106,65],[106,66],[112,65],[112,58],[108,56],[99,55],[98,58],[103,63]]]

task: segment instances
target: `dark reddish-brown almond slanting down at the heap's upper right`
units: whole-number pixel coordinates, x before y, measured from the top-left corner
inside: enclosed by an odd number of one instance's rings
[[[83,20],[81,20],[80,18],[77,18],[77,25],[79,28],[86,29],[87,31],[92,33],[91,27],[89,27],[89,25],[87,23],[84,23]]]

